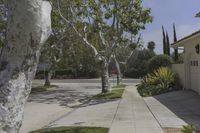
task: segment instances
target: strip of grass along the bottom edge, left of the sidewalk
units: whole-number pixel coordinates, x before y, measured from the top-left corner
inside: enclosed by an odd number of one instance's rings
[[[55,127],[46,128],[30,133],[108,133],[108,128],[101,127]]]

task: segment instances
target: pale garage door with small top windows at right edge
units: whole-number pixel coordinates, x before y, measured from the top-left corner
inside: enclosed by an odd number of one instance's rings
[[[190,61],[190,87],[192,90],[199,92],[199,62],[198,60]]]

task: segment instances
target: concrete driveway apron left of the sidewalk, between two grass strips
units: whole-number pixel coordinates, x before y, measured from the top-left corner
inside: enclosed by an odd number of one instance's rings
[[[110,128],[119,101],[99,101],[78,107],[47,127],[89,126]]]

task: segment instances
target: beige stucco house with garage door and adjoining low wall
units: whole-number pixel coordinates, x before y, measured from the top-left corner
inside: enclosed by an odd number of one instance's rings
[[[173,64],[184,89],[192,89],[200,94],[200,31],[172,44],[173,48],[184,48],[184,63]]]

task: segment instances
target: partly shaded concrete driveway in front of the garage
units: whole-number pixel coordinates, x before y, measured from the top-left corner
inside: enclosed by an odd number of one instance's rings
[[[193,124],[200,131],[200,96],[197,93],[176,91],[144,100],[164,129]]]

